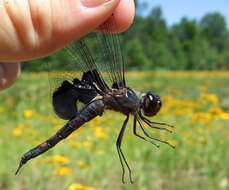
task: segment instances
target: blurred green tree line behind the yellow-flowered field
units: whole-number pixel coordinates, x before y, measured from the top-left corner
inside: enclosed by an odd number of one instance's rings
[[[138,11],[141,12],[141,11]],[[182,18],[168,26],[162,9],[154,7],[147,16],[137,14],[133,26],[121,34],[127,70],[227,70],[229,69],[229,30],[219,12],[200,20]],[[44,71],[43,62],[55,62],[65,70],[63,53],[23,64],[25,71]]]

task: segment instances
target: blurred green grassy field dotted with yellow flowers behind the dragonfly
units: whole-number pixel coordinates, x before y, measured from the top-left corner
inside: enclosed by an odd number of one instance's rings
[[[0,94],[0,190],[229,189],[229,72],[131,72],[127,79],[162,96],[154,120],[175,125],[174,133],[149,130],[176,149],[135,137],[131,121],[123,151],[134,184],[123,185],[115,142],[125,116],[107,111],[15,176],[22,154],[65,123],[52,112],[47,74],[23,74]]]

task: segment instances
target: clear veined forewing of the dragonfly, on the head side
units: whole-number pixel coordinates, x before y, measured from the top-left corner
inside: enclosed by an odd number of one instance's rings
[[[84,71],[94,71],[93,78],[98,78],[102,91],[108,88],[125,87],[124,59],[122,56],[119,34],[112,15],[99,27],[101,32],[91,33],[66,47],[67,51]]]

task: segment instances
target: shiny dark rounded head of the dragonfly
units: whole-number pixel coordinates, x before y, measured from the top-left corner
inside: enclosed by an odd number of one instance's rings
[[[141,98],[141,109],[145,116],[156,115],[161,108],[161,99],[151,92],[144,94]]]

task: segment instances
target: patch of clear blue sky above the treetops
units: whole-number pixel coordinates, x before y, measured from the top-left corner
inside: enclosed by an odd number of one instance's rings
[[[150,7],[160,6],[163,16],[171,26],[184,16],[200,19],[208,12],[218,11],[226,17],[229,27],[229,0],[140,0]]]

